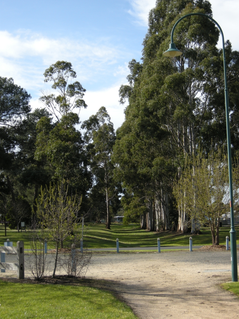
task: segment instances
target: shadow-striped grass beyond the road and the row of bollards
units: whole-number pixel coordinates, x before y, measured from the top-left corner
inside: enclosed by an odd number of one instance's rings
[[[239,231],[239,227],[235,227]],[[226,244],[226,236],[230,238],[230,227],[220,228],[220,244]],[[81,233],[81,226],[78,228]],[[30,248],[27,232],[18,233],[16,230],[7,228],[7,237],[4,237],[4,225],[0,225],[0,246],[4,245],[7,238],[13,241],[13,246],[18,240],[24,241],[25,249]],[[105,228],[105,224],[87,223],[84,227],[84,247],[88,248],[113,248],[116,247],[116,238],[119,238],[120,248],[127,247],[150,247],[157,246],[157,238],[160,238],[161,246],[188,246],[191,234],[178,234],[176,232],[148,232],[140,228],[137,224],[128,226],[122,224],[112,224],[111,229]],[[202,228],[202,234],[192,236],[193,245],[211,245],[212,235],[209,228]],[[239,244],[239,236],[237,243]],[[67,243],[65,243],[67,246]],[[53,245],[52,245],[53,247]],[[49,248],[49,247],[48,247]]]

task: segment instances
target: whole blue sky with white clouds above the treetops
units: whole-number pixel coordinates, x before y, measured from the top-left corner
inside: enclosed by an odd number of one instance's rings
[[[210,2],[225,39],[239,50],[238,1]],[[40,90],[50,90],[43,72],[67,60],[87,90],[81,120],[104,105],[116,129],[125,108],[118,90],[126,83],[128,62],[140,60],[154,5],[155,0],[0,0],[0,75],[12,77],[32,95],[32,107],[41,107]]]

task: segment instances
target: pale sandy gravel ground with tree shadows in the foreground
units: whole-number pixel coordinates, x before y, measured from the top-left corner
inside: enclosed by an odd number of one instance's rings
[[[6,262],[14,258],[6,255]],[[93,256],[86,276],[101,279],[101,287],[116,293],[141,319],[231,319],[239,318],[239,299],[220,287],[231,281],[230,269],[226,250],[102,253]],[[16,272],[1,277],[16,277]]]

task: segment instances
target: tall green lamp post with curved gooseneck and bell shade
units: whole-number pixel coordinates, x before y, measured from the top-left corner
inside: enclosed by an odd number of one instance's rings
[[[219,28],[222,36],[222,52],[223,52],[223,64],[224,64],[224,82],[225,82],[225,107],[226,107],[226,123],[227,123],[227,144],[228,144],[228,173],[229,173],[229,191],[230,191],[230,213],[231,213],[231,230],[230,230],[230,241],[231,241],[231,264],[232,264],[232,281],[238,281],[237,277],[237,256],[236,256],[236,231],[234,227],[234,208],[233,208],[233,187],[232,187],[232,161],[231,161],[231,136],[230,136],[230,123],[229,123],[229,107],[228,107],[228,87],[227,87],[227,68],[226,68],[226,56],[225,56],[225,45],[224,36],[219,24],[210,16],[203,13],[189,13],[178,19],[172,28],[171,32],[171,43],[169,49],[163,52],[164,56],[175,57],[183,54],[179,51],[173,42],[173,33],[177,24],[190,16],[203,16],[212,20],[215,25]]]

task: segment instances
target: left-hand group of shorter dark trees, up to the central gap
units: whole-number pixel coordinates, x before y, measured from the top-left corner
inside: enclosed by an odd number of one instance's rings
[[[44,211],[40,196],[45,189],[63,187],[80,203],[79,220],[105,218],[110,228],[110,216],[120,207],[120,189],[112,186],[115,132],[110,117],[101,107],[80,122],[79,112],[87,107],[85,89],[74,82],[71,63],[52,64],[44,77],[56,93],[42,91],[44,107],[33,112],[31,96],[13,79],[0,78],[1,221],[18,231],[21,221],[36,225]]]

